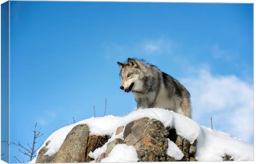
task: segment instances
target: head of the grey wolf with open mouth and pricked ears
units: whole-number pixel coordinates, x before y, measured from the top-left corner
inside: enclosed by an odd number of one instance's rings
[[[135,88],[139,87],[139,71],[140,62],[135,59],[128,58],[125,63],[117,62],[120,67],[120,78],[122,79],[122,84],[120,89],[125,92],[130,92]]]

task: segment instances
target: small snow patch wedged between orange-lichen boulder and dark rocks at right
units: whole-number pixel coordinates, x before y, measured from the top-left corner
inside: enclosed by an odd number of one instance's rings
[[[182,159],[184,156],[183,152],[178,148],[178,146],[173,141],[171,141],[170,139],[167,140],[168,148],[166,150],[166,155],[173,157],[175,160]]]

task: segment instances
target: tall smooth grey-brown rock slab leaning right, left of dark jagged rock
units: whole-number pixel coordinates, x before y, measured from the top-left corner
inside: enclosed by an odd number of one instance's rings
[[[59,148],[55,162],[85,162],[85,152],[89,139],[89,128],[85,124],[76,125],[69,132]]]

